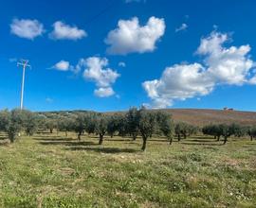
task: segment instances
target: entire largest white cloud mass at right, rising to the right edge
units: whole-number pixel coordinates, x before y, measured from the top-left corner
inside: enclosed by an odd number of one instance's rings
[[[153,100],[154,108],[166,108],[174,100],[209,95],[218,85],[256,84],[249,45],[223,46],[227,34],[212,32],[203,38],[197,54],[205,56],[204,63],[175,64],[167,67],[161,78],[145,81],[142,86]]]

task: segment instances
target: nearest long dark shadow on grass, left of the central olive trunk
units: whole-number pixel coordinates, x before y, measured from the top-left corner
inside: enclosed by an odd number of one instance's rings
[[[69,147],[67,148],[67,150],[95,151],[95,152],[107,153],[107,154],[139,152],[139,150],[134,148],[118,148],[118,147]]]

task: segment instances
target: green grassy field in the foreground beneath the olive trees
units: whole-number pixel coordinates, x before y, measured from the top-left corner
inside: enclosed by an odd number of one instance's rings
[[[255,207],[256,141],[56,134],[0,146],[1,207]]]

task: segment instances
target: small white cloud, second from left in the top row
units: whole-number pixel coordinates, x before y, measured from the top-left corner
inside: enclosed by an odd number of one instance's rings
[[[77,26],[68,26],[64,22],[57,21],[53,24],[53,31],[49,37],[55,40],[79,40],[87,36],[87,33]]]

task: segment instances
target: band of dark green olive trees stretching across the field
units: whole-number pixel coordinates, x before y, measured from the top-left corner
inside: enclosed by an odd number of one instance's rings
[[[157,135],[166,137],[170,145],[174,138],[181,141],[192,134],[204,133],[213,136],[217,141],[223,137],[224,144],[230,136],[249,136],[256,138],[256,127],[245,127],[238,124],[210,124],[202,129],[185,122],[174,122],[170,113],[149,111],[145,108],[131,108],[127,113],[95,113],[95,112],[59,112],[31,113],[26,110],[0,111],[0,131],[8,134],[11,143],[21,132],[28,136],[33,133],[53,133],[69,131],[77,133],[80,141],[84,133],[99,136],[102,145],[104,136],[119,135],[137,140],[142,138],[142,150],[146,149],[149,138]]]

